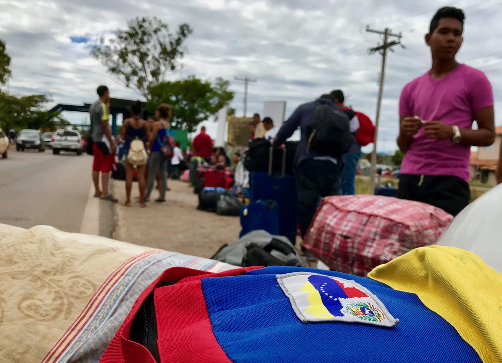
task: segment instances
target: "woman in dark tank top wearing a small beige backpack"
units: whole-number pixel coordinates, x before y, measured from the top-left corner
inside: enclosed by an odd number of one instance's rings
[[[131,206],[131,191],[133,189],[133,179],[134,179],[134,166],[131,165],[127,160],[127,155],[129,154],[129,149],[131,148],[131,142],[136,138],[143,141],[146,144],[148,140],[149,130],[147,127],[147,122],[140,117],[142,111],[142,105],[140,101],[134,102],[131,107],[131,117],[126,118],[122,123],[122,129],[120,130],[120,137],[124,140],[124,167],[126,167],[126,195],[127,200],[124,205]],[[146,149],[146,146],[145,146]],[[146,165],[138,166],[138,182],[140,185],[140,205],[146,207],[145,204],[145,192],[147,189],[147,181],[145,178],[145,168]]]

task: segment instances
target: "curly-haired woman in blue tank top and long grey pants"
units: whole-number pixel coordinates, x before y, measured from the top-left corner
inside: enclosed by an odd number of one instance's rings
[[[167,191],[167,162],[168,159],[160,152],[159,140],[164,140],[166,133],[169,133],[169,120],[171,119],[171,106],[163,103],[157,107],[157,118],[159,122],[154,125],[152,134],[150,135],[150,145],[152,146],[152,156],[150,158],[150,172],[148,175],[148,189],[146,198],[150,200],[150,194],[155,184],[155,176],[160,173],[162,181],[162,189],[160,197],[155,199],[156,202],[162,203],[166,201]]]

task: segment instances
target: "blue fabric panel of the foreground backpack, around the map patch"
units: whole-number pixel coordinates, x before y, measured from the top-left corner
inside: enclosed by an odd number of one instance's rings
[[[348,323],[304,324],[276,275],[310,271],[367,288],[400,323],[394,328]],[[271,267],[241,277],[206,278],[202,290],[218,343],[244,362],[480,362],[442,317],[415,294],[367,278],[305,268]]]

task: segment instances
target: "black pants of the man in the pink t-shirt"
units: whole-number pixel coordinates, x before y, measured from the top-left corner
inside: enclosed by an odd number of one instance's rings
[[[434,205],[457,215],[469,204],[469,184],[449,175],[427,176],[401,174],[398,198]]]

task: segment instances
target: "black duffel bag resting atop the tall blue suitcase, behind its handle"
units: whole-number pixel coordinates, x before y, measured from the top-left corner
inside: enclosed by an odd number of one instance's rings
[[[286,146],[286,174],[293,174],[293,168],[295,163],[296,149],[298,148],[298,142],[288,141],[285,143]],[[265,139],[256,139],[249,144],[249,150],[246,151],[244,155],[244,168],[247,171],[269,171],[269,160],[270,160],[270,141]],[[283,163],[283,151],[274,150],[273,161],[272,161],[272,172],[281,173]]]

